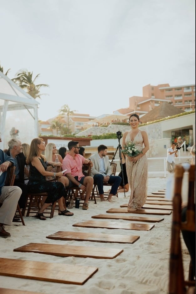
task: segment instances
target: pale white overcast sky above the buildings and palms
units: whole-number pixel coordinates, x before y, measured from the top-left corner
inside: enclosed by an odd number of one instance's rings
[[[0,62],[40,73],[39,119],[99,116],[142,87],[195,83],[195,0],[2,0]]]

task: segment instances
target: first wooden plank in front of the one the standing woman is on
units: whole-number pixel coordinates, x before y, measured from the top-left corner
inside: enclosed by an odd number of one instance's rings
[[[108,214],[98,214],[98,215],[93,215],[91,217],[99,218],[99,219],[114,219],[114,220],[125,220],[125,221],[144,221],[149,223],[155,223],[155,222],[164,220],[164,218],[158,218],[158,217],[132,216],[132,215],[108,215]]]

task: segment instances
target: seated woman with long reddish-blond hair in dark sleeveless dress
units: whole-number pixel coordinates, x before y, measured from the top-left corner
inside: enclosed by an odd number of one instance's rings
[[[63,197],[66,196],[64,185],[60,182],[48,182],[46,176],[62,177],[63,173],[47,171],[47,165],[42,152],[45,150],[44,140],[35,138],[31,141],[29,154],[27,157],[27,164],[30,166],[30,178],[28,181],[28,190],[32,193],[47,192],[48,197],[44,204],[37,212],[36,216],[40,220],[46,220],[43,215],[44,210],[54,201],[58,201],[59,215],[71,216],[72,212],[65,209],[63,205]],[[51,169],[51,167],[49,167]]]

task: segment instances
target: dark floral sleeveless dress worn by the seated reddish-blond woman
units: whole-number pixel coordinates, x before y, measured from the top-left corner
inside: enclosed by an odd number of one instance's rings
[[[44,160],[40,159],[44,169],[47,169],[47,165]],[[45,203],[53,203],[62,196],[66,198],[66,191],[64,185],[60,182],[48,182],[46,177],[42,175],[31,163],[30,163],[30,178],[27,184],[29,193],[42,193],[47,192],[48,197]]]

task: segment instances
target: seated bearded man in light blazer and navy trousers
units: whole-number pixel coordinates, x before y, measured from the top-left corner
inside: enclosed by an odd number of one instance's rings
[[[99,145],[98,153],[91,155],[90,160],[93,163],[91,168],[91,176],[94,179],[94,184],[97,185],[101,201],[105,201],[103,183],[113,184],[110,194],[107,198],[111,202],[112,195],[116,195],[118,187],[121,183],[121,177],[111,175],[111,167],[107,155],[107,146]]]

